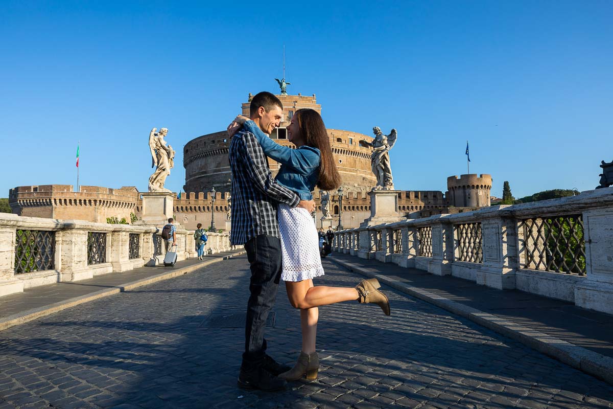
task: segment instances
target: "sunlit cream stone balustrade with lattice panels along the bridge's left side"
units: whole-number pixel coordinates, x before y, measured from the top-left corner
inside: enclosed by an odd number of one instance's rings
[[[230,250],[229,234],[208,233],[209,254]],[[0,296],[25,288],[162,264],[161,229],[0,213]],[[177,226],[177,261],[196,257],[194,231]]]

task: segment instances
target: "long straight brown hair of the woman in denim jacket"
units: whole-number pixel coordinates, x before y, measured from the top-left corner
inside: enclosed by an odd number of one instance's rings
[[[338,174],[337,164],[332,156],[332,147],[330,147],[330,138],[324,120],[313,109],[299,109],[295,117],[298,120],[300,135],[305,138],[306,145],[318,148],[321,152],[317,186],[323,190],[337,189],[341,185],[341,176]]]

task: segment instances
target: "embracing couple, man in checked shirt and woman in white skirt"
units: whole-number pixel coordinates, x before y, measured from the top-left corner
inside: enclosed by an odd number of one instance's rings
[[[312,109],[295,112],[287,127],[287,139],[295,149],[268,137],[283,117],[283,105],[276,96],[256,94],[249,116],[237,117],[228,126],[234,199],[230,242],[245,246],[251,269],[238,386],[274,391],[305,375],[309,380],[317,377],[315,338],[320,305],[357,300],[378,304],[386,315],[390,308],[376,278],[362,280],[355,288],[313,285],[313,278],[324,275],[324,269],[311,218],[315,210],[311,191],[315,186],[333,190],[341,183],[319,113]],[[276,178],[267,156],[281,164]],[[293,368],[266,354],[264,327],[281,279],[290,304],[300,309],[302,352]]]

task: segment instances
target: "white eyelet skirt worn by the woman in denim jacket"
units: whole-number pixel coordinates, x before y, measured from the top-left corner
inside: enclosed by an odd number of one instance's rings
[[[319,256],[319,237],[311,214],[305,208],[278,207],[284,281],[302,281],[324,275]]]

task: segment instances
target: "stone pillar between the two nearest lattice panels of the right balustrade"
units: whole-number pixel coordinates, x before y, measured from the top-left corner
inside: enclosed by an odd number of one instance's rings
[[[483,264],[476,272],[479,285],[498,289],[516,288],[519,268],[517,223],[513,218],[492,218],[481,223]]]

